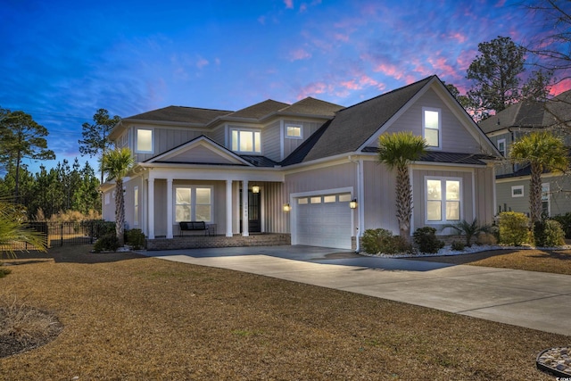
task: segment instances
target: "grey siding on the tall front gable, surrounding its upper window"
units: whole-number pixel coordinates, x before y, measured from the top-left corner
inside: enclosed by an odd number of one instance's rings
[[[441,110],[442,118],[442,151],[452,153],[480,153],[480,144],[460,123],[451,110],[443,103],[433,89],[418,99],[415,104],[404,112],[393,125],[387,129],[387,133],[398,131],[412,131],[414,135],[422,136],[422,108],[431,107]]]

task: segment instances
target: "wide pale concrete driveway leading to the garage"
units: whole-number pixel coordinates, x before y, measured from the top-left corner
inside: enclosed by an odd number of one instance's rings
[[[310,246],[230,247],[142,254],[571,335],[571,276],[567,275],[363,257]]]

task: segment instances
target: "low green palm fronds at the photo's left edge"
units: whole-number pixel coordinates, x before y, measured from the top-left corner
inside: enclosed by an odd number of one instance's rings
[[[0,258],[2,253],[15,257],[12,243],[25,242],[36,250],[46,252],[46,236],[26,227],[23,222],[25,211],[17,204],[0,200]]]

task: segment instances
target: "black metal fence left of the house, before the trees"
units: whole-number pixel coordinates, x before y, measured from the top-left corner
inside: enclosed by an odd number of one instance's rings
[[[91,220],[80,222],[29,222],[28,227],[46,236],[47,247],[94,244],[98,237],[115,232],[115,222]],[[35,250],[27,243],[14,242],[0,246],[0,252],[5,250],[21,251]]]

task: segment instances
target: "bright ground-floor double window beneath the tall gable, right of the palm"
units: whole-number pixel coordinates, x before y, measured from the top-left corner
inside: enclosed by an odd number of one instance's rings
[[[458,222],[461,188],[460,178],[426,178],[426,223]]]

